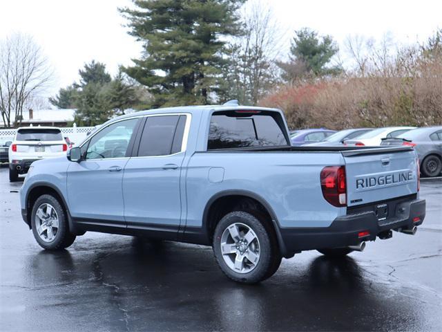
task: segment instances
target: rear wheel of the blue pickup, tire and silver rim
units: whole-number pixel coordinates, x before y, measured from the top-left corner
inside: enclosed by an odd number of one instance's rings
[[[244,284],[262,282],[281,262],[275,237],[248,212],[224,216],[213,234],[213,252],[222,272]]]

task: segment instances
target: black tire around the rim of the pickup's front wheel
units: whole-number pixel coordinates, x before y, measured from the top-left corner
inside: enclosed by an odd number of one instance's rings
[[[58,229],[57,234],[52,241],[46,242],[39,236],[36,227],[36,214],[39,206],[42,204],[48,203],[52,205],[55,212],[57,212],[58,216]],[[46,250],[63,250],[64,248],[68,248],[75,241],[75,234],[71,234],[69,232],[68,219],[66,217],[66,213],[64,212],[63,207],[59,203],[59,201],[50,194],[44,194],[39,196],[39,198],[35,201],[34,206],[32,206],[31,212],[31,227],[32,233],[34,234],[35,240],[41,248]]]

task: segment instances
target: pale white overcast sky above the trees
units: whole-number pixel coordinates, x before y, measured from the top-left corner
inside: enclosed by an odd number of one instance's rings
[[[266,0],[263,0],[266,1]],[[401,44],[423,41],[442,28],[440,0],[267,0],[283,31],[287,49],[293,31],[313,28],[340,44],[347,35],[381,39],[385,33]],[[115,74],[131,64],[141,46],[127,35],[118,7],[130,0],[0,0],[0,39],[11,33],[35,37],[57,73],[48,95],[78,80],[78,70],[96,59]]]

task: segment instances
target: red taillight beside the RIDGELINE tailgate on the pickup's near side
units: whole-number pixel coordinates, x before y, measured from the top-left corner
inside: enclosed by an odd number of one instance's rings
[[[327,202],[337,207],[347,206],[345,166],[324,167],[320,171],[320,187]]]

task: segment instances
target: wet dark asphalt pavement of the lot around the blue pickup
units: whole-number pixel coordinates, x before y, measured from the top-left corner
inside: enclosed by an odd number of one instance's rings
[[[23,223],[21,183],[0,169],[0,331],[442,331],[442,181],[423,181],[427,216],[334,261],[284,259],[235,284],[211,248],[88,232],[45,252]]]

